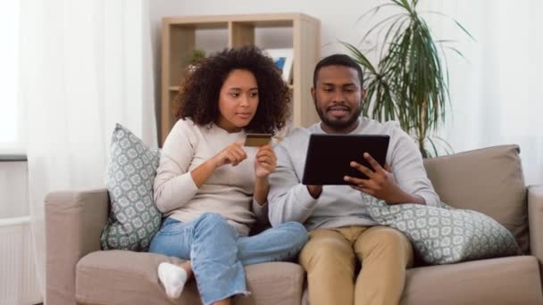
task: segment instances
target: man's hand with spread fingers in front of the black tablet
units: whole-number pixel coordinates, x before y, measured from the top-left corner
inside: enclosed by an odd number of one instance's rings
[[[425,204],[422,197],[408,194],[397,185],[388,164],[386,164],[383,169],[368,152],[364,152],[363,157],[370,163],[373,170],[368,169],[355,161],[351,161],[350,165],[352,168],[359,170],[368,177],[368,179],[349,176],[344,177],[344,180],[350,183],[351,187],[365,194],[370,194],[377,199],[384,200],[388,204],[407,202]]]

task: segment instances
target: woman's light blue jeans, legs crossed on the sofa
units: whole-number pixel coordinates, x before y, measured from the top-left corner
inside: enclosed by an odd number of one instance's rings
[[[307,241],[305,227],[284,223],[254,236],[239,237],[219,214],[183,223],[166,218],[150,252],[190,260],[205,305],[246,291],[243,266],[296,257]]]

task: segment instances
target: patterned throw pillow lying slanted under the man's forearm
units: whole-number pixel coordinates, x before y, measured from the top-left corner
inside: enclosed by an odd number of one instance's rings
[[[380,225],[403,232],[416,254],[430,264],[521,254],[514,236],[496,220],[474,210],[421,204],[388,205],[364,196]]]

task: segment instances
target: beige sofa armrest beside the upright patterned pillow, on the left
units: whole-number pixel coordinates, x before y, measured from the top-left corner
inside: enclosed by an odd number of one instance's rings
[[[46,304],[76,304],[75,267],[83,256],[100,250],[108,204],[106,189],[47,194]]]

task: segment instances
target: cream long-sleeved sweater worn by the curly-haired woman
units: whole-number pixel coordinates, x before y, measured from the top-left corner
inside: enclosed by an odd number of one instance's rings
[[[267,209],[254,199],[254,147],[244,147],[247,159],[237,166],[224,165],[198,188],[190,171],[221,152],[231,143],[244,140],[245,131],[228,133],[214,124],[198,126],[179,120],[163,145],[155,177],[155,204],[164,216],[188,222],[202,213],[221,214],[239,235],[247,235],[256,218],[267,217]]]

